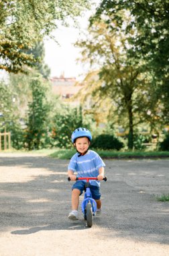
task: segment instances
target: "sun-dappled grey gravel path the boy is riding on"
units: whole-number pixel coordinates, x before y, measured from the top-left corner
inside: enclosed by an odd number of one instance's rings
[[[67,160],[0,154],[0,256],[168,255],[169,160],[105,160],[103,212],[68,220]]]

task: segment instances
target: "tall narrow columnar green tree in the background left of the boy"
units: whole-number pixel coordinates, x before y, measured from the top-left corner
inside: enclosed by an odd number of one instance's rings
[[[48,84],[39,74],[32,78],[32,102],[29,103],[25,143],[29,150],[46,147],[50,133],[50,103]]]

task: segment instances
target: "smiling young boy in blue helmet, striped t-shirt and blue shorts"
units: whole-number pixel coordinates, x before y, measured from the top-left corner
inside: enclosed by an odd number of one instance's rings
[[[72,133],[72,143],[76,148],[77,153],[72,156],[68,164],[68,177],[71,181],[76,181],[77,177],[97,177],[98,181],[91,180],[91,193],[93,199],[97,203],[97,212],[101,212],[101,193],[100,181],[104,177],[105,163],[100,156],[92,150],[89,146],[92,140],[91,132],[86,128],[78,128]],[[85,180],[76,181],[72,186],[72,212],[68,215],[70,220],[78,220],[78,203],[79,196],[84,190]]]

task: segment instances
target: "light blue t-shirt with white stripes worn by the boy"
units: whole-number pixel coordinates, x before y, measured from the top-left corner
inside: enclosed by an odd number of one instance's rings
[[[84,156],[74,154],[68,164],[68,170],[77,172],[77,177],[97,177],[99,175],[99,168],[104,167],[105,163],[93,150],[89,150]],[[85,181],[85,180],[84,180]],[[90,181],[91,185],[100,187],[100,181]]]

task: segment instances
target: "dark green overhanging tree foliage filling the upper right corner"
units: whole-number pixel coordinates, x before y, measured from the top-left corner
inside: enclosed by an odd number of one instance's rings
[[[147,71],[153,73],[152,86],[155,96],[162,104],[161,120],[169,121],[169,1],[119,1],[103,0],[91,23],[100,20],[103,15],[114,15],[117,30],[125,30],[129,35],[130,49],[127,51],[129,58],[137,61],[144,60]],[[123,26],[123,11],[128,11],[132,18],[127,26]],[[109,18],[107,19],[109,23]],[[125,28],[125,29],[124,29]],[[112,30],[114,28],[112,27]],[[154,88],[155,89],[155,88]]]

